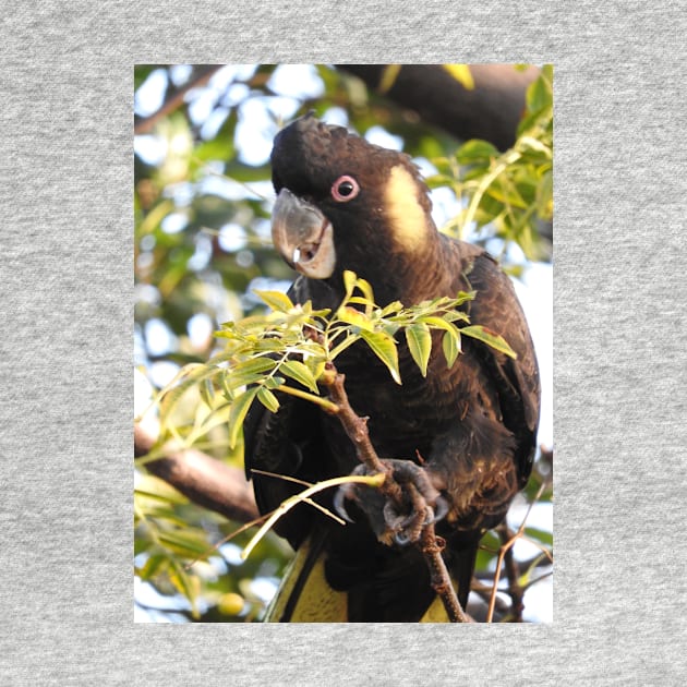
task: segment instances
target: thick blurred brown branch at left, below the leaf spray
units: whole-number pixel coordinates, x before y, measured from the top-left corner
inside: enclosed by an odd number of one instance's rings
[[[134,424],[134,456],[145,456],[156,437]],[[210,510],[240,522],[260,517],[253,490],[242,470],[227,466],[193,448],[180,448],[173,442],[166,445],[166,456],[145,465],[156,477]]]

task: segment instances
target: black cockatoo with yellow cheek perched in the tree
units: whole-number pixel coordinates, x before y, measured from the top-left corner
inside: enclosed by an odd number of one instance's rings
[[[435,337],[423,377],[400,337],[401,386],[362,342],[336,361],[353,410],[370,419],[377,454],[415,463],[422,457],[420,470],[441,494],[434,505],[445,517],[436,529],[447,540],[443,555],[465,607],[479,541],[525,486],[535,448],[539,373],[513,285],[484,250],[437,231],[429,190],[405,154],[309,114],[277,134],[272,168],[273,237],[300,273],[290,290],[294,302],[336,310],[347,269],[372,285],[379,305],[475,291],[466,306],[471,324],[499,334],[517,353],[514,360],[462,337],[462,352],[447,370]],[[279,400],[275,414],[254,403],[248,415],[249,474],[257,468],[316,482],[359,468],[336,418],[292,396]],[[253,480],[263,513],[302,489],[264,475]],[[277,531],[298,554],[268,619],[441,618],[419,550],[377,540],[384,498],[369,487],[345,495],[352,525],[340,526],[308,505],[279,522]]]

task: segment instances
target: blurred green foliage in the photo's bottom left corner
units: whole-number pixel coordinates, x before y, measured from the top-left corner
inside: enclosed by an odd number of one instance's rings
[[[153,617],[196,622],[245,622],[260,617],[266,598],[255,580],[281,577],[287,546],[277,537],[262,540],[248,561],[239,551],[250,540],[236,522],[190,503],[158,478],[140,475],[134,493],[136,578],[149,586],[145,599]],[[154,592],[152,591],[154,590]],[[167,600],[167,601],[165,601]],[[138,600],[141,607],[145,602]]]

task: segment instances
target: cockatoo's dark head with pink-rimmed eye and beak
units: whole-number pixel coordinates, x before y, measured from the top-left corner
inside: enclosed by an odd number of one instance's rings
[[[365,277],[371,267],[378,275],[401,256],[421,258],[436,234],[410,158],[342,126],[296,120],[275,138],[272,169],[274,242],[306,277],[340,281],[345,269]]]

